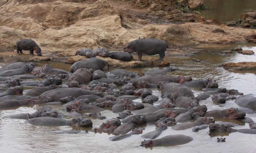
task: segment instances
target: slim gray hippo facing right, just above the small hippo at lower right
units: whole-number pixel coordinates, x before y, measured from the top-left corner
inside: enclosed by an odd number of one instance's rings
[[[192,128],[195,126],[200,126],[203,124],[210,124],[210,123],[215,123],[213,117],[200,117],[197,120],[195,120],[194,122],[186,122],[186,123],[177,124],[174,127],[172,127],[172,129],[185,130],[185,129]]]

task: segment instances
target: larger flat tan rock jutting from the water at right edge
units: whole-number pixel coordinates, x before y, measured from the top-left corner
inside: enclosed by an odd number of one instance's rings
[[[221,65],[225,69],[230,70],[255,70],[256,62],[238,62],[238,63],[224,63]]]

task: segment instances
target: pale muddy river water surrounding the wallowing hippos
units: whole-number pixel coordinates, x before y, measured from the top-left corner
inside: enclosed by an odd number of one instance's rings
[[[194,79],[211,78],[215,79],[220,87],[227,89],[237,89],[244,94],[252,93],[256,96],[256,72],[255,71],[228,71],[219,67],[223,62],[242,62],[254,61],[256,62],[256,55],[241,55],[241,54],[221,54],[222,50],[228,50],[233,47],[243,47],[244,49],[251,49],[256,52],[256,47],[251,44],[238,44],[238,45],[201,45],[198,48],[204,49],[202,53],[197,53],[192,57],[170,57],[165,58],[171,62],[171,66],[178,67],[181,70],[171,72],[169,75],[186,75],[192,76]],[[193,62],[191,59],[200,59],[203,62]],[[68,70],[70,65],[61,62],[47,62],[56,68]],[[3,63],[1,63],[3,65]],[[45,63],[38,63],[39,66]],[[152,69],[159,69],[158,67],[128,69],[137,71],[143,74]],[[160,68],[162,69],[162,68]],[[200,89],[193,89],[195,96],[202,93]],[[154,90],[154,95],[161,96],[160,91]],[[161,99],[161,98],[160,98]],[[137,99],[135,101],[141,101]],[[239,107],[234,103],[234,100],[229,100],[226,104],[214,105],[211,98],[201,101],[200,104],[206,105],[208,110],[213,109],[226,109],[229,107]],[[158,105],[157,103],[155,105]],[[185,134],[194,138],[190,143],[180,146],[172,147],[155,147],[153,150],[138,147],[143,141],[141,135],[133,135],[129,138],[123,139],[118,142],[111,142],[106,133],[92,133],[88,132],[88,128],[80,128],[82,133],[79,134],[58,134],[52,133],[54,130],[72,130],[69,126],[62,127],[45,127],[34,126],[26,122],[26,120],[8,119],[5,116],[17,113],[32,113],[38,110],[42,105],[35,105],[31,107],[19,107],[9,110],[0,111],[0,150],[5,153],[12,152],[26,152],[26,153],[43,153],[43,152],[255,152],[256,135],[231,133],[225,135],[226,142],[218,143],[217,137],[209,136],[207,134],[209,128],[200,130],[199,132],[192,132],[192,128],[175,131],[169,127],[165,130],[160,137],[174,134]],[[58,110],[64,115],[65,119],[70,119],[70,112],[66,112],[61,105],[51,105],[54,109]],[[117,113],[112,113],[110,110],[102,112],[102,115],[108,119],[117,117]],[[247,114],[256,121],[256,113]],[[93,127],[98,127],[106,120],[92,119]],[[230,121],[230,120],[229,120]],[[218,121],[217,121],[218,122]],[[248,124],[236,122],[241,124],[239,128],[249,128]],[[148,124],[145,126],[143,134],[153,131],[155,126]]]

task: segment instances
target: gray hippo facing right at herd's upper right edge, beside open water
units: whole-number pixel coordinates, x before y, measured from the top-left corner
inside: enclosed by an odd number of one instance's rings
[[[186,81],[183,83],[186,87],[190,88],[218,88],[218,84],[215,80],[210,79],[198,79],[192,81]]]

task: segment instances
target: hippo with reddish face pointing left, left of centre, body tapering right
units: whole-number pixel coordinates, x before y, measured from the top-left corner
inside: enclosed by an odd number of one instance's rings
[[[83,102],[79,102],[79,101],[74,101],[72,103],[69,103],[66,106],[67,110],[72,110],[75,109],[77,111],[88,111],[88,112],[102,112],[104,111],[104,109],[95,106],[95,105],[88,105],[86,103]]]

